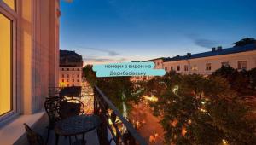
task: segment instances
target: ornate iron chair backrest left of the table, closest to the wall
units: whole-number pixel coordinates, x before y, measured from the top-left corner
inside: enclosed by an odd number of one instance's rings
[[[49,117],[49,127],[53,128],[55,126],[55,122],[59,117],[59,107],[60,107],[61,98],[58,96],[51,96],[46,98],[44,102],[45,111]]]

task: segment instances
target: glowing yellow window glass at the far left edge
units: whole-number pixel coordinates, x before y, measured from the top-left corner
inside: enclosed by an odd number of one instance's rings
[[[12,21],[0,14],[0,115],[11,110]]]

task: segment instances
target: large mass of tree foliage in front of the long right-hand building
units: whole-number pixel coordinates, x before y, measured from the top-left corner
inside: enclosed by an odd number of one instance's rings
[[[161,118],[167,144],[256,143],[255,125],[245,117],[247,107],[236,102],[236,91],[226,79],[172,73],[148,83],[165,86],[163,90],[151,86],[147,91],[159,95],[151,106]],[[177,85],[175,94],[172,89]]]

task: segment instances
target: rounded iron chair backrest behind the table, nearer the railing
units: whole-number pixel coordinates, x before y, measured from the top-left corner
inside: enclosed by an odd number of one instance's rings
[[[84,104],[78,99],[68,99],[60,102],[59,114],[61,119],[67,119],[82,113],[84,113]]]

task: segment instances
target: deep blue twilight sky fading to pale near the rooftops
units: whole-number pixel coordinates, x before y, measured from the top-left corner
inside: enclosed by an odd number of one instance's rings
[[[63,0],[60,49],[75,50],[85,63],[108,63],[231,47],[256,38],[255,6],[255,0]]]

